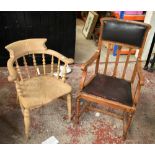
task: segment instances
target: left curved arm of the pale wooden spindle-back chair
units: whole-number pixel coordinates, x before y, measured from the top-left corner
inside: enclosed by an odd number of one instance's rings
[[[13,82],[17,79],[17,72],[15,70],[15,68],[13,67],[13,63],[14,63],[14,58],[10,58],[7,61],[7,68],[9,71],[9,76],[8,76],[8,81]]]

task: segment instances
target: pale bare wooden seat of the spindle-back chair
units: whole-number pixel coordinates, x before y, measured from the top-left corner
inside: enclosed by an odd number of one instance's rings
[[[22,96],[19,100],[24,108],[33,109],[45,105],[56,98],[71,93],[71,86],[52,76],[38,76],[22,83]],[[19,84],[18,84],[19,85]]]

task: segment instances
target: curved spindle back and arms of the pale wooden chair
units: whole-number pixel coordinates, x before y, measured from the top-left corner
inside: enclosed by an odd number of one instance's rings
[[[23,81],[24,79],[40,75],[50,75],[65,81],[66,66],[73,63],[73,59],[68,59],[54,50],[47,49],[45,46],[46,41],[47,39],[45,38],[26,39],[11,43],[5,47],[10,53],[10,59],[7,63],[10,74],[8,77],[9,81]],[[38,57],[38,55],[40,55],[40,57]],[[51,64],[48,65],[48,67],[46,65],[47,55],[51,57]],[[42,59],[42,65],[37,64],[36,58]],[[23,61],[24,67],[19,65],[19,59]],[[28,59],[31,59],[33,69],[28,65],[30,61],[28,61]],[[55,59],[57,59],[57,64],[54,64]],[[63,65],[63,71],[61,72],[60,64]]]

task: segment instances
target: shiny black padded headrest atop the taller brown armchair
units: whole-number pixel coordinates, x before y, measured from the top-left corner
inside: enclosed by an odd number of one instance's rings
[[[119,20],[103,20],[102,39],[141,47],[146,25]]]

